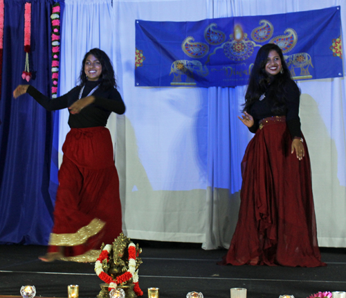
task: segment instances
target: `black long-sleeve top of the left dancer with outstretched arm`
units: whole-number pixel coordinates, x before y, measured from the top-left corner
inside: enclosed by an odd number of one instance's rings
[[[99,83],[100,82],[97,81],[86,82],[81,98],[88,96],[89,92]],[[68,93],[54,99],[48,98],[31,85],[28,87],[26,92],[30,94],[30,96],[33,96],[37,103],[42,105],[42,107],[48,111],[55,111],[57,109],[71,107],[71,105],[78,100],[80,89],[82,89],[80,86],[74,87]],[[117,114],[125,113],[125,104],[117,89],[113,87],[107,90],[98,88],[92,95],[95,96],[94,103],[84,107],[78,114],[71,114],[70,112],[70,128],[94,128],[96,126],[106,126],[111,112]]]

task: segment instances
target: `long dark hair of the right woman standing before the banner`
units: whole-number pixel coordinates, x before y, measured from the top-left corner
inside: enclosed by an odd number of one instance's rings
[[[283,73],[277,73],[275,76],[269,76],[266,73],[266,62],[270,51],[276,51],[281,60]],[[268,94],[271,98],[271,111],[273,113],[282,113],[286,110],[286,87],[287,80],[291,80],[291,73],[282,55],[282,51],[276,44],[264,44],[257,52],[253,69],[251,70],[248,80],[248,89],[245,94],[245,104],[243,112],[249,112],[249,109],[256,100],[262,96],[271,87],[271,92],[275,92],[275,96]]]

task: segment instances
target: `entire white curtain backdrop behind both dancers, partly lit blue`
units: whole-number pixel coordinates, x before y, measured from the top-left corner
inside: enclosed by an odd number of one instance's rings
[[[237,119],[245,87],[136,87],[135,21],[198,21],[341,6],[346,0],[66,0],[61,94],[75,86],[84,53],[113,60],[124,116],[116,142],[123,230],[130,238],[228,248],[237,222],[240,161],[252,134]],[[169,34],[169,33],[167,33]],[[143,53],[145,56],[145,53]],[[143,62],[145,63],[145,61]],[[298,82],[309,146],[320,246],[346,247],[345,79]],[[116,120],[115,120],[116,119]],[[60,143],[66,113],[62,113]]]

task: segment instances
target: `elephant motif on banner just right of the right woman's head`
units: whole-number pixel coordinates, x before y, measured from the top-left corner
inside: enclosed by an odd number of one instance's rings
[[[287,67],[291,71],[291,76],[294,79],[307,79],[312,78],[309,73],[309,66],[313,67],[311,56],[308,53],[297,53],[294,55],[286,56],[284,55],[284,60],[286,60]],[[300,74],[295,75],[295,69],[300,69]]]

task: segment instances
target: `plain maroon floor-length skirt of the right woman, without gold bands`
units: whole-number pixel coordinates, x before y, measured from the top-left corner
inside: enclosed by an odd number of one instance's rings
[[[307,144],[299,160],[291,154],[291,143],[286,121],[277,117],[264,121],[248,143],[237,227],[221,264],[325,265],[318,249]]]

